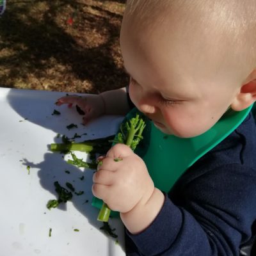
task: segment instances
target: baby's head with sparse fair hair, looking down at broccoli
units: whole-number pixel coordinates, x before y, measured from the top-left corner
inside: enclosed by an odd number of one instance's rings
[[[128,0],[129,93],[161,131],[202,134],[256,99],[255,0]]]

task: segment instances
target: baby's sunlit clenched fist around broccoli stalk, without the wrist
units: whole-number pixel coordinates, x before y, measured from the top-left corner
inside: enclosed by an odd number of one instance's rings
[[[93,175],[93,195],[122,213],[148,201],[154,183],[143,160],[124,144],[116,144]]]

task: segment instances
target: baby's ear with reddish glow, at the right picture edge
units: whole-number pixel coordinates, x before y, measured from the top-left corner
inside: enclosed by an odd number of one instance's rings
[[[246,78],[240,88],[240,92],[231,104],[235,111],[241,111],[248,108],[256,101],[256,69]]]

